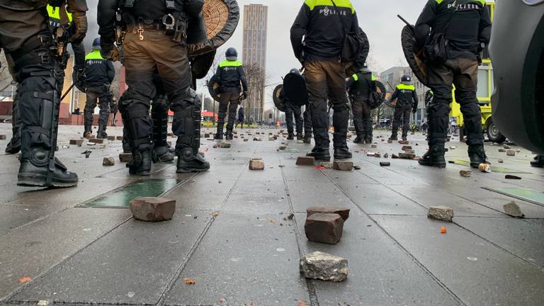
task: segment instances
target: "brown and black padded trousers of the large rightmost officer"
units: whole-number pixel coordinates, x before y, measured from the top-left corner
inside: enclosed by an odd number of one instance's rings
[[[446,140],[448,116],[452,102],[452,84],[455,85],[455,101],[461,106],[467,145],[483,145],[482,113],[477,92],[478,62],[475,59],[457,57],[441,65],[429,68],[429,85],[434,93],[429,106],[429,140]]]

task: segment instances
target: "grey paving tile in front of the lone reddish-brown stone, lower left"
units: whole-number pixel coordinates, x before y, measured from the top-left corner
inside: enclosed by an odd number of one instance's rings
[[[167,222],[129,220],[30,283],[11,301],[157,303],[209,218],[176,212]]]

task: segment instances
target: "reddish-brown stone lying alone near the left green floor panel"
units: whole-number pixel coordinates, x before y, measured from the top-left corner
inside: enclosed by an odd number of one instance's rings
[[[130,212],[136,220],[159,222],[170,220],[176,211],[176,200],[167,198],[135,198],[130,201]]]

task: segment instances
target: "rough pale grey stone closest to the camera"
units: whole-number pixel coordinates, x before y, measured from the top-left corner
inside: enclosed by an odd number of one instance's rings
[[[348,278],[348,261],[314,251],[300,258],[300,274],[305,278],[341,282]]]

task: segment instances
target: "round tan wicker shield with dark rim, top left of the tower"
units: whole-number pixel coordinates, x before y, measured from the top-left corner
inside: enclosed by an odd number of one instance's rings
[[[236,0],[204,0],[202,12],[208,40],[188,45],[191,57],[222,46],[236,30],[240,18]]]

